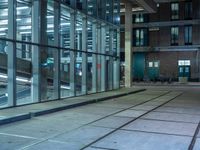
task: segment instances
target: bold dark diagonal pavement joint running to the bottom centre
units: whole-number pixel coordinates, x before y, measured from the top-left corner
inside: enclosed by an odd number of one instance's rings
[[[104,136],[98,138],[97,140],[95,140],[95,141],[89,143],[88,145],[86,145],[85,147],[81,148],[80,150],[84,150],[84,149],[90,147],[90,146],[93,145],[94,143],[96,143],[96,142],[102,140],[103,138],[105,138],[105,137],[111,135],[112,133],[114,133],[114,132],[120,130],[120,129],[123,128],[124,126],[126,126],[126,125],[128,125],[128,124],[130,124],[130,123],[132,123],[132,122],[134,122],[134,121],[136,121],[137,119],[140,119],[142,116],[144,116],[144,115],[146,115],[146,114],[152,112],[153,110],[158,109],[159,107],[162,107],[162,106],[166,105],[167,103],[171,102],[172,100],[176,99],[177,97],[181,96],[182,94],[183,94],[183,93],[180,93],[180,94],[176,95],[175,97],[173,97],[172,99],[168,100],[167,102],[165,102],[165,103],[163,103],[163,104],[157,106],[156,108],[154,108],[154,109],[152,109],[152,110],[149,110],[149,111],[147,111],[146,113],[144,113],[144,114],[142,114],[142,115],[140,115],[140,116],[138,116],[138,117],[132,119],[131,121],[129,121],[129,122],[123,124],[122,126],[116,128],[116,129],[114,129],[113,131],[111,131],[111,132],[105,134]]]

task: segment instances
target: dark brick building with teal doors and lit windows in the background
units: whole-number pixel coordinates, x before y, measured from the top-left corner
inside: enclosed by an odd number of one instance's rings
[[[133,80],[200,81],[199,8],[199,0],[171,1],[157,3],[156,13],[133,13]],[[122,51],[124,37],[122,26]]]

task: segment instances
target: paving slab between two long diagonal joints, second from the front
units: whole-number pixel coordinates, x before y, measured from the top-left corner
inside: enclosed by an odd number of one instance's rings
[[[98,126],[98,127],[106,127],[106,128],[118,128],[131,120],[132,118],[129,118],[129,117],[127,118],[127,117],[110,116],[110,117],[101,119],[99,121],[96,121],[90,125]]]

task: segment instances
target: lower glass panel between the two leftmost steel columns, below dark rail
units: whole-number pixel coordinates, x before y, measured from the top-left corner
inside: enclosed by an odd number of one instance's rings
[[[32,46],[17,43],[17,54],[16,97],[17,105],[21,105],[33,102],[31,98]]]

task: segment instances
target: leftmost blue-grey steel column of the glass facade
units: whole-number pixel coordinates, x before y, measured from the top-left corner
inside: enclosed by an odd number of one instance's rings
[[[8,38],[16,40],[16,0],[8,0]],[[8,106],[16,106],[16,43],[8,42]]]

